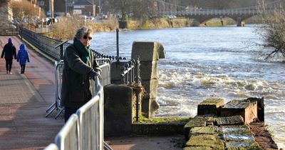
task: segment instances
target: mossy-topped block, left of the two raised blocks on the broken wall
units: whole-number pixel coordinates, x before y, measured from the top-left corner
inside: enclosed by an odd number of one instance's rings
[[[198,105],[197,115],[214,114],[219,116],[219,109],[224,105],[224,99],[205,99]]]

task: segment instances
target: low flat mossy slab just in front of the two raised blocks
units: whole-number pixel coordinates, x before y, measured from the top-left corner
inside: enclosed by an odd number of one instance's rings
[[[244,124],[244,119],[242,116],[225,116],[225,117],[218,117],[216,119],[215,124],[217,126],[226,126],[226,125],[242,125]]]

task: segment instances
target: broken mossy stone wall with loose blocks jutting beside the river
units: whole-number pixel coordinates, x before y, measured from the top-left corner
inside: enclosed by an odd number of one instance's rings
[[[224,104],[206,99],[185,125],[184,150],[278,149],[264,127],[264,99],[249,98]]]

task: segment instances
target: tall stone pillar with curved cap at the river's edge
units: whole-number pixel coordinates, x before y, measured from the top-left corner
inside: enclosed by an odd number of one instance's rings
[[[140,57],[140,77],[142,86],[147,91],[147,96],[142,100],[142,112],[144,116],[153,117],[159,108],[156,102],[159,76],[157,64],[159,59],[165,58],[162,44],[153,41],[134,41],[132,59]]]

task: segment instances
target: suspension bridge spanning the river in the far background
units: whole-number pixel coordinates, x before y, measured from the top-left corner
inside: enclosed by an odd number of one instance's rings
[[[282,0],[271,1],[264,4],[266,10],[273,10],[281,4]],[[259,6],[248,6],[236,9],[202,9],[193,6],[179,6],[165,2],[164,0],[155,1],[155,16],[184,16],[195,19],[200,24],[214,18],[229,17],[237,22],[237,26],[243,26],[246,19],[260,14]]]

